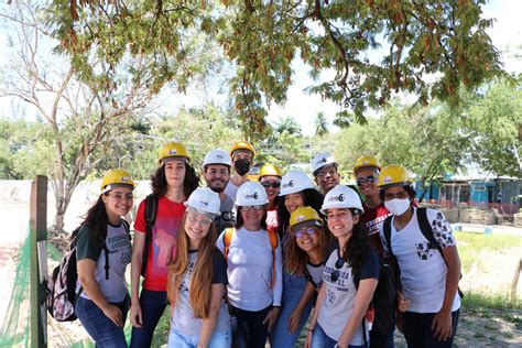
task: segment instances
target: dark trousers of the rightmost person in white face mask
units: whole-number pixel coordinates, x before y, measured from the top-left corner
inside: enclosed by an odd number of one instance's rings
[[[404,313],[404,338],[407,347],[450,348],[457,333],[460,309],[452,312],[452,336],[446,340],[437,340],[433,336],[432,322],[436,313]]]

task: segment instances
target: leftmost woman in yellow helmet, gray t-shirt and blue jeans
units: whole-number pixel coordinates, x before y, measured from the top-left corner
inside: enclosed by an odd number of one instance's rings
[[[127,347],[129,311],[126,269],[131,243],[122,216],[133,204],[134,182],[123,170],[104,176],[101,194],[75,238],[78,281],[75,313],[97,347]]]

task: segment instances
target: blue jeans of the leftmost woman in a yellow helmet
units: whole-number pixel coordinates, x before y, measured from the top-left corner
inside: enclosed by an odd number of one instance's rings
[[[123,323],[129,311],[129,296],[120,303],[111,303],[120,308]],[[127,347],[123,327],[117,326],[104,312],[90,300],[78,297],[76,300],[75,314],[85,330],[96,344],[96,347],[120,348]]]

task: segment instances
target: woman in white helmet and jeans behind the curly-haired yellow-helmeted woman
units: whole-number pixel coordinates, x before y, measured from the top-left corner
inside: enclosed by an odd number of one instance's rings
[[[300,207],[309,206],[319,211],[323,195],[315,188],[312,180],[303,172],[291,170],[281,181],[278,204],[278,219],[283,249],[293,236],[290,231],[290,217]],[[271,333],[274,347],[294,347],[313,307],[315,287],[306,280],[304,273],[294,273],[283,260],[283,298],[281,314]]]

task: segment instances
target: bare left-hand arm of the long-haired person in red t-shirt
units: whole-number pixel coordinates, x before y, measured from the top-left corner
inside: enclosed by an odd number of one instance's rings
[[[143,318],[140,306],[140,275],[143,262],[143,250],[145,248],[145,233],[135,231],[134,246],[131,258],[131,308],[130,322],[134,327],[141,327]]]

